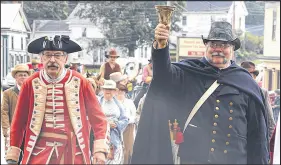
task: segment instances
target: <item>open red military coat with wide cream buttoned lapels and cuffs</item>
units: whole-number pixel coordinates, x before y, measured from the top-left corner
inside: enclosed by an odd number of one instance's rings
[[[11,147],[7,152],[7,160],[18,160],[19,147],[26,131],[22,163],[27,164],[30,157],[34,156],[31,153],[40,133],[42,133],[41,131],[48,130],[43,124],[46,122],[46,117],[44,116],[48,110],[46,100],[48,100],[47,98],[50,99],[51,96],[48,95],[49,84],[46,83],[42,74],[43,71],[35,73],[22,86],[11,124]],[[70,124],[65,126],[71,127],[67,128],[67,130],[74,131],[84,162],[90,164],[89,124],[95,133],[94,152],[108,153],[109,150],[109,126],[105,115],[101,111],[90,82],[81,74],[67,70],[60,84],[63,84],[62,90],[64,91],[64,101],[66,103],[64,109],[68,111],[67,115],[70,118],[68,120]]]

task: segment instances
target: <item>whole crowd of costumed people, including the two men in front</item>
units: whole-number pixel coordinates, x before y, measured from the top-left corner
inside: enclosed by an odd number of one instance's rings
[[[169,27],[158,24],[134,99],[115,49],[97,77],[84,77],[78,62],[65,67],[68,54],[82,50],[68,36],[29,43],[43,67],[16,65],[16,85],[3,92],[7,163],[274,163],[280,91],[271,105],[255,64],[232,60],[240,41],[231,25],[212,24],[202,59],[171,63],[168,37]]]

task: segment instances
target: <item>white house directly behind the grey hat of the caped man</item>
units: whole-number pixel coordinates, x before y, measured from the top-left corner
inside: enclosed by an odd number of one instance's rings
[[[186,1],[178,36],[207,37],[213,21],[228,21],[242,35],[248,10],[244,1]],[[233,13],[233,11],[235,11]]]

